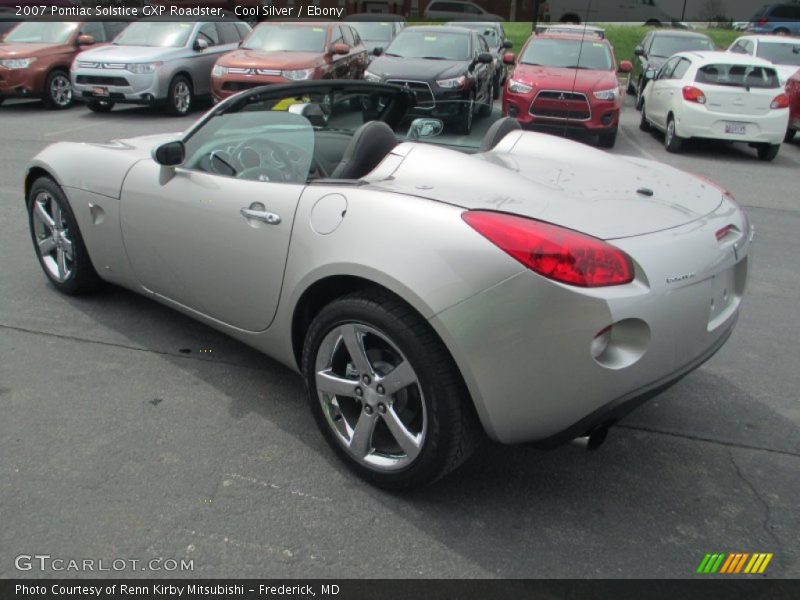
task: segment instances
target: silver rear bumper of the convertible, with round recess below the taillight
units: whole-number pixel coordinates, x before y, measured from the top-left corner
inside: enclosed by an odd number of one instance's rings
[[[741,235],[717,242],[728,224]],[[612,241],[636,263],[630,284],[581,289],[526,271],[431,324],[489,436],[551,446],[618,419],[725,343],[751,239],[744,213],[723,202],[702,221]],[[609,325],[609,350],[594,358],[592,341]]]

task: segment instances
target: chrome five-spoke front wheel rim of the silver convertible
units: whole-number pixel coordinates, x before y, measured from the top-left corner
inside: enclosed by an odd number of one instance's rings
[[[47,192],[34,199],[33,230],[42,263],[50,276],[63,283],[72,275],[74,250],[69,228],[58,202]]]

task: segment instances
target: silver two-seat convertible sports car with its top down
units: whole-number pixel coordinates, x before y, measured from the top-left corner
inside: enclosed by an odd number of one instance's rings
[[[51,145],[25,197],[56,289],[124,286],[299,371],[334,451],[391,489],[487,435],[596,445],[725,343],[753,237],[708,180],[494,113],[456,135],[363,81]]]

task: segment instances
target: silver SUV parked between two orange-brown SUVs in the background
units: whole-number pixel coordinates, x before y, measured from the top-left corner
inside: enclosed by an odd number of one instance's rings
[[[189,113],[198,96],[210,95],[211,69],[250,32],[237,20],[132,23],[110,46],[81,52],[72,65],[76,99],[95,112],[115,104],[163,105]]]

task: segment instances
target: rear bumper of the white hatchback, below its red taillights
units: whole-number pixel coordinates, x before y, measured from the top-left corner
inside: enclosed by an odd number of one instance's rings
[[[744,123],[746,133],[725,132],[726,123]],[[684,102],[676,113],[675,126],[684,138],[708,138],[731,142],[780,144],[789,123],[789,109],[771,110],[766,115],[752,116],[710,112],[703,105]]]

